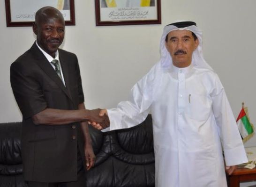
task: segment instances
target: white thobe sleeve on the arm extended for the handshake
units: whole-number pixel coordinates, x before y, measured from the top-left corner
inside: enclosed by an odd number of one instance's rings
[[[117,108],[107,110],[110,128],[106,130],[130,128],[143,122],[158,93],[162,75],[162,67],[159,62],[133,86],[128,101],[121,101]]]

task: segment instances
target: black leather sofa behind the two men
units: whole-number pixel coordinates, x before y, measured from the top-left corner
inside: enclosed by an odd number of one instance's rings
[[[0,123],[0,187],[27,187],[21,158],[21,122]],[[154,187],[152,119],[102,133],[90,126],[95,166],[87,187]]]

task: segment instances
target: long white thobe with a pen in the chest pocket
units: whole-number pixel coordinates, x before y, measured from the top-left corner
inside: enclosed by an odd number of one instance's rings
[[[135,126],[151,113],[156,187],[226,187],[226,165],[247,156],[215,72],[165,70],[158,63],[132,88],[130,101],[108,111],[110,130]]]

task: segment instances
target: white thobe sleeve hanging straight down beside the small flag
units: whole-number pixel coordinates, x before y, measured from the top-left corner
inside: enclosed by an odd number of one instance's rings
[[[216,76],[214,84],[214,89],[211,93],[212,108],[222,142],[226,165],[246,163],[248,159],[244,145],[225,90],[218,76]]]

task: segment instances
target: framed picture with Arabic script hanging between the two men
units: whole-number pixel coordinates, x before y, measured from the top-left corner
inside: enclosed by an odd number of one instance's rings
[[[96,26],[161,24],[160,0],[95,0]]]

